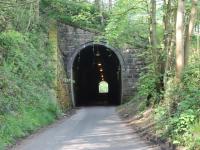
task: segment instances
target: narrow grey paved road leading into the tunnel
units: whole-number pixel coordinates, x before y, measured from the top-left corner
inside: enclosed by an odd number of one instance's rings
[[[85,107],[12,150],[158,150],[120,120],[115,107]]]

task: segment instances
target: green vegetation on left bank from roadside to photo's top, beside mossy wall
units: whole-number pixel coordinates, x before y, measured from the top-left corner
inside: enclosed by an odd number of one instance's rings
[[[38,8],[28,0],[0,1],[1,150],[62,112],[55,92],[55,51]]]

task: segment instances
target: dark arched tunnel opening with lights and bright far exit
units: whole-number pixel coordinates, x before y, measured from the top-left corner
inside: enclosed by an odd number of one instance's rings
[[[121,103],[121,64],[112,49],[92,44],[81,49],[73,66],[75,106],[110,106]]]

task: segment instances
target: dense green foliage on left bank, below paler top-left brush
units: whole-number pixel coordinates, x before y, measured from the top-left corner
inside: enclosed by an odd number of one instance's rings
[[[53,51],[42,31],[0,34],[0,148],[52,122],[59,114]]]

